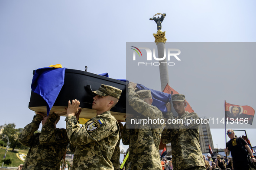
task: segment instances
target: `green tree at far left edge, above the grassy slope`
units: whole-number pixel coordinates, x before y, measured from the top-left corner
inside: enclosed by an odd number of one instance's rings
[[[5,128],[3,129],[3,134],[7,135],[9,137],[9,141],[10,141],[10,148],[13,148],[13,151],[16,147],[20,147],[21,144],[18,141],[18,137],[20,132],[22,131],[22,128],[19,129],[15,129],[15,124],[14,123],[9,123],[8,125],[5,126]],[[7,139],[5,139],[7,142]]]

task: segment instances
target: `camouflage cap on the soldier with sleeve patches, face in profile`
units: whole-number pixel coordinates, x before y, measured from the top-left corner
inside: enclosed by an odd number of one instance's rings
[[[93,91],[93,93],[98,94],[100,96],[112,96],[114,98],[117,98],[119,100],[122,90],[119,88],[115,88],[110,85],[100,85],[99,90]]]

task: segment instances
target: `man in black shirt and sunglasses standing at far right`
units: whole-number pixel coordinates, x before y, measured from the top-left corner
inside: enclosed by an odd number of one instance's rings
[[[247,154],[244,154],[243,146],[245,146],[246,150],[249,152],[252,161],[256,162],[252,150],[243,138],[236,138],[235,133],[232,129],[227,130],[227,135],[230,138],[230,141],[227,142],[227,148],[224,149],[224,152],[226,152],[228,156],[231,151],[234,169],[250,170],[250,166],[247,161]]]

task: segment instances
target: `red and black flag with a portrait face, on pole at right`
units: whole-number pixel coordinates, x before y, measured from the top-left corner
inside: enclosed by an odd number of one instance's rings
[[[229,122],[238,121],[239,123],[251,125],[253,123],[254,113],[253,107],[229,104],[225,101],[225,117]]]

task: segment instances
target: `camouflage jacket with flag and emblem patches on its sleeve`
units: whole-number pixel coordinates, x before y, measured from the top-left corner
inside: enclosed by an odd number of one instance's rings
[[[95,116],[82,127],[76,116],[65,120],[68,138],[75,146],[72,170],[113,170],[110,159],[119,138],[119,126],[110,111]]]

